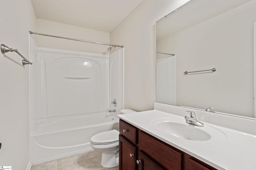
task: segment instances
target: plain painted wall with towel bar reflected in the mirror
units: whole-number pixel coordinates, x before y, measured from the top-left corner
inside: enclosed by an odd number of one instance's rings
[[[176,55],[176,104],[254,117],[256,0],[157,42]],[[184,71],[216,68],[214,73]]]

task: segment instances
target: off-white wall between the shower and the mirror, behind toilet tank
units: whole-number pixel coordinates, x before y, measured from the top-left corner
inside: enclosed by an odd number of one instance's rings
[[[153,109],[156,101],[154,24],[189,0],[144,0],[110,33],[110,43],[125,46],[124,108]]]

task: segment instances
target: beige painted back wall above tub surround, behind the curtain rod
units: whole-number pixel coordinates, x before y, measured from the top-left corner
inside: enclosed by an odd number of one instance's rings
[[[110,43],[110,33],[108,32],[96,31],[93,29],[58,23],[54,21],[42,20],[38,18],[36,18],[36,32],[61,37],[96,41],[101,43]],[[106,45],[46,37],[42,35],[33,35],[33,38],[36,40],[36,43],[39,47],[63,49],[70,51],[83,51],[88,53],[109,54],[107,50],[108,46]]]

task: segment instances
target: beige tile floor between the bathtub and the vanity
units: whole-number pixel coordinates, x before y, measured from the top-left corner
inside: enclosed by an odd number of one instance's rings
[[[30,170],[118,170],[100,165],[101,153],[94,150],[33,165]]]

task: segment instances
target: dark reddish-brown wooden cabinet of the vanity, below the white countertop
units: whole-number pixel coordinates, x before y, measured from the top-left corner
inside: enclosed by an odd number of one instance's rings
[[[120,119],[119,170],[216,170]]]

